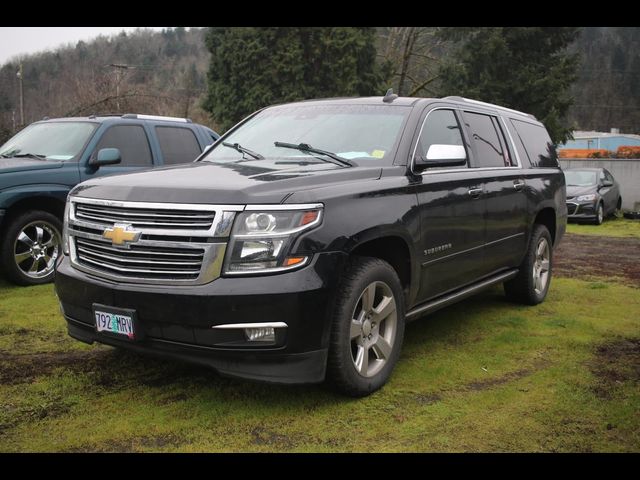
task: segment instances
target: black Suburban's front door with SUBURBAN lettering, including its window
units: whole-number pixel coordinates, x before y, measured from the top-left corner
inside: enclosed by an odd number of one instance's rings
[[[428,112],[413,157],[426,157],[432,144],[463,145],[467,164],[424,170],[412,184],[418,197],[422,242],[418,302],[469,284],[482,270],[482,185],[470,168],[470,146],[455,109]]]

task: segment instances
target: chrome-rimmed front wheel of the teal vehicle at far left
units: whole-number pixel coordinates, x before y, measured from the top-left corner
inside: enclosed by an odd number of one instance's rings
[[[53,280],[61,253],[62,225],[49,212],[30,211],[16,216],[4,230],[0,265],[8,280],[18,285],[39,285]]]

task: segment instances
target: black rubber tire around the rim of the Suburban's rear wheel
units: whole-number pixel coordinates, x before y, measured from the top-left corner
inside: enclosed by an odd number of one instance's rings
[[[544,239],[548,245],[548,270],[544,288],[538,289],[535,283],[534,268],[539,260],[537,251]],[[544,301],[551,285],[553,271],[553,243],[551,234],[544,225],[535,224],[531,232],[531,239],[527,247],[527,253],[520,264],[518,275],[504,282],[504,293],[509,300],[525,305],[537,305]]]

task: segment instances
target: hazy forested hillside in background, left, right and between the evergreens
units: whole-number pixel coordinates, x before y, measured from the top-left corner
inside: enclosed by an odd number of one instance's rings
[[[445,90],[438,68],[454,50],[436,30],[377,29],[378,62],[396,92],[426,97]],[[136,112],[187,116],[218,128],[202,108],[210,60],[205,34],[203,28],[139,29],[25,56],[25,124],[44,116]],[[640,28],[586,27],[572,49],[581,64],[570,123],[640,133]],[[21,128],[17,72],[17,59],[0,67],[0,141]]]

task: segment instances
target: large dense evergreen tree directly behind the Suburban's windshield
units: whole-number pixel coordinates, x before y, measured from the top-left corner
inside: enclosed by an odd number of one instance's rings
[[[380,95],[374,28],[212,27],[205,110],[221,130],[273,103]]]

